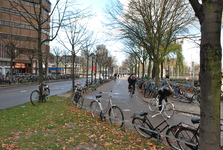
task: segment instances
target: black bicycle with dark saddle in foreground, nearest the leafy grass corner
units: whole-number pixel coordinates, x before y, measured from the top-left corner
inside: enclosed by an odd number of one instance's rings
[[[142,110],[139,114],[134,113],[133,116],[131,116],[132,118],[132,124],[134,124],[134,128],[135,130],[143,137],[145,138],[156,138],[159,142],[162,142],[162,138],[160,133],[162,133],[165,129],[167,129],[166,131],[166,140],[167,143],[173,147],[173,138],[175,138],[175,133],[177,131],[178,126],[170,126],[167,122],[167,119],[164,119],[163,117],[163,121],[157,125],[156,127],[154,127],[152,125],[152,123],[149,121],[148,117],[148,112]],[[156,115],[153,115],[152,117],[155,117]],[[166,124],[163,127],[163,124]],[[160,129],[160,127],[162,127]],[[176,142],[175,142],[176,143]]]

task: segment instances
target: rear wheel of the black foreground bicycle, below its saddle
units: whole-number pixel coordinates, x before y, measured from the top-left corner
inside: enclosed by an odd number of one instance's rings
[[[133,118],[132,120],[132,124],[134,124],[134,128],[135,130],[143,137],[145,138],[151,138],[153,136],[153,133],[150,132],[150,127],[148,126],[148,124],[146,124],[145,122],[143,122],[143,119],[142,118]],[[143,127],[143,128],[140,128],[140,127]],[[146,129],[149,129],[149,130],[146,130]]]

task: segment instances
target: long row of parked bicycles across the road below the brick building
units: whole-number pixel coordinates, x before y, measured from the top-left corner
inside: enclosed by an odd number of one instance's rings
[[[71,74],[49,74],[44,75],[43,80],[44,81],[50,81],[50,80],[69,80],[72,78]],[[79,75],[75,75],[75,78],[79,78]],[[39,76],[38,75],[31,75],[31,74],[16,74],[12,77],[10,75],[0,75],[0,85],[6,85],[6,84],[19,84],[19,83],[30,83],[30,82],[38,82]]]

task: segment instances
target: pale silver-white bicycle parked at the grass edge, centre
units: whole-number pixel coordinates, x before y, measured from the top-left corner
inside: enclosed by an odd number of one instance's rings
[[[99,94],[96,95],[96,99],[93,100],[90,104],[90,110],[93,117],[96,117],[96,115],[100,116],[100,119],[103,121],[105,119],[105,114],[108,112],[109,121],[112,125],[116,124],[118,127],[122,127],[124,124],[124,115],[122,110],[117,106],[112,104],[111,98],[113,95],[110,92],[99,92]],[[107,107],[103,109],[102,103],[101,103],[101,94],[108,94],[108,103]]]

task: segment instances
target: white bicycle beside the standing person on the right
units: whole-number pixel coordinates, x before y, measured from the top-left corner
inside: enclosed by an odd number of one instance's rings
[[[162,115],[162,112],[165,114],[167,118],[171,118],[175,114],[175,106],[172,102],[164,102],[162,105],[159,105],[159,97],[160,95],[156,93],[155,97],[151,99],[148,103],[148,107],[151,111],[158,111],[159,107],[162,107],[159,114]]]

